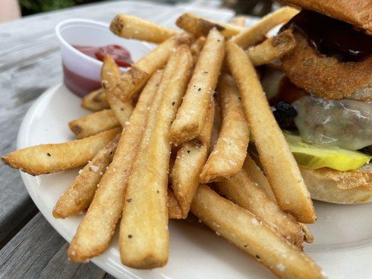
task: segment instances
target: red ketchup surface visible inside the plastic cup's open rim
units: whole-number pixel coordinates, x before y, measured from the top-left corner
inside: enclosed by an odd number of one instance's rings
[[[131,54],[128,52],[128,50],[126,50],[124,47],[121,47],[120,45],[106,45],[105,47],[87,47],[73,45],[73,47],[75,47],[75,49],[79,50],[80,52],[101,61],[105,59],[106,54],[110,54],[112,59],[114,59],[114,61],[120,67],[131,67],[131,64],[133,63]]]

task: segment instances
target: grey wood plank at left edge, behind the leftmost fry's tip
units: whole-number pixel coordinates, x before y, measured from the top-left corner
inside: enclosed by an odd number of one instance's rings
[[[43,91],[60,82],[60,72],[57,53],[0,72],[1,154],[16,149],[17,133],[24,114]],[[1,163],[0,176],[0,243],[3,243],[29,214],[36,211],[36,206],[24,188],[20,172]]]

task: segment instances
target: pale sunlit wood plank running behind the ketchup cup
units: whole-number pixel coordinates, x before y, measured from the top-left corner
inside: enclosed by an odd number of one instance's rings
[[[170,13],[170,6],[141,1],[110,1],[42,13],[0,25],[0,70],[59,50],[54,28],[62,20],[82,18],[110,23],[117,13],[137,15],[158,22]]]

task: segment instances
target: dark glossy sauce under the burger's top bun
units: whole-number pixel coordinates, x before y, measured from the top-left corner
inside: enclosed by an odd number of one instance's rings
[[[339,61],[363,61],[372,54],[372,36],[355,30],[352,24],[311,10],[302,10],[292,17],[281,31],[288,28],[299,31],[321,54]]]

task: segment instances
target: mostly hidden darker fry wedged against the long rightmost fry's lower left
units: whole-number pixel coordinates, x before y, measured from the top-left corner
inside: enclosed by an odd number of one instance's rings
[[[243,169],[246,171],[249,177],[258,184],[258,186],[264,190],[267,197],[271,199],[272,202],[276,202],[276,198],[273,190],[267,180],[265,174],[262,173],[260,167],[255,163],[255,161],[247,154],[246,160],[244,161]]]

